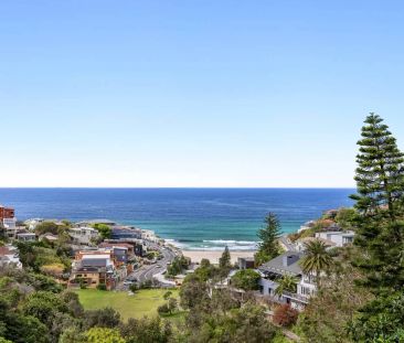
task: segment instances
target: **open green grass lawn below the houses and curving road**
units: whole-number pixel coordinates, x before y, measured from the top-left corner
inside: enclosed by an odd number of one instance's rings
[[[172,297],[178,297],[178,290],[171,290]],[[117,310],[123,320],[128,318],[142,318],[143,315],[157,315],[157,308],[166,302],[164,289],[142,289],[134,296],[124,291],[102,291],[96,289],[76,290],[79,302],[85,310],[97,310],[110,307]],[[176,317],[176,315],[173,315]],[[170,317],[167,319],[171,320]]]

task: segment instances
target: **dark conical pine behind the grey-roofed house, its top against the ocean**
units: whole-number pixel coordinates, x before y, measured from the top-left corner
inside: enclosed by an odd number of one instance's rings
[[[255,256],[256,265],[262,265],[279,255],[280,223],[277,216],[270,212],[265,217],[264,223],[265,227],[258,232],[261,243]]]

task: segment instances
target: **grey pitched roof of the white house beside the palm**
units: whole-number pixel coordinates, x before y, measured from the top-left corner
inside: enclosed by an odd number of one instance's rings
[[[302,253],[298,251],[286,251],[278,257],[275,257],[270,261],[262,265],[258,270],[264,274],[278,274],[278,275],[301,275],[301,268],[299,266],[299,260],[304,256]],[[285,261],[289,260],[289,264]],[[290,262],[291,261],[291,262]]]

